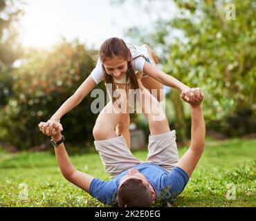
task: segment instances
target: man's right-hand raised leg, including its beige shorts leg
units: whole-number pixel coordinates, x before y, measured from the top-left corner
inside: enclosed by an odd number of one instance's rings
[[[143,86],[140,84],[140,88]],[[154,162],[172,171],[179,161],[176,133],[170,127],[161,104],[147,90],[142,93],[142,111],[149,122],[149,153],[147,162]]]

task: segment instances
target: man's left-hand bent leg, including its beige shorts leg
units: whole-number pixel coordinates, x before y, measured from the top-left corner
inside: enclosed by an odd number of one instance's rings
[[[122,107],[117,108],[109,102],[98,116],[93,128],[95,148],[111,178],[141,162],[131,154],[125,138],[122,135],[116,135],[115,129],[121,115]]]

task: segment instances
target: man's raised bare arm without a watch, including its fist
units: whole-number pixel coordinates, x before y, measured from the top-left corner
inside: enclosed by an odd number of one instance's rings
[[[188,151],[181,157],[181,160],[179,160],[176,165],[183,169],[189,177],[192,175],[196,164],[199,162],[205,146],[205,122],[203,119],[203,106],[201,104],[204,95],[201,90],[197,93],[192,93],[192,97],[195,97],[195,99],[190,102],[192,120],[191,144]],[[199,97],[199,99],[196,99],[196,97]]]

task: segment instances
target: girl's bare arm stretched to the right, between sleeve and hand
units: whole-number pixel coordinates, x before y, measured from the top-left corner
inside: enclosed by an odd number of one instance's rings
[[[152,64],[149,64],[145,62],[143,67],[143,72],[150,77],[153,77],[157,81],[161,82],[162,84],[166,86],[170,86],[171,88],[175,88],[178,90],[189,90],[190,87],[186,86],[185,84],[181,83],[178,79],[167,75],[163,71],[156,68],[156,66],[153,66]]]

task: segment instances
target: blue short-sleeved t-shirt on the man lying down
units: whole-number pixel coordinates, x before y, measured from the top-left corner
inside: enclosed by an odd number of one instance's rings
[[[175,166],[171,173],[162,166],[149,162],[140,163],[132,168],[145,175],[153,186],[158,199],[164,200],[170,197],[171,200],[174,200],[183,191],[189,180],[187,173],[179,168],[179,166]],[[116,200],[120,179],[125,175],[127,175],[127,171],[120,173],[120,175],[109,181],[94,178],[89,188],[90,195],[104,203],[110,204]]]

